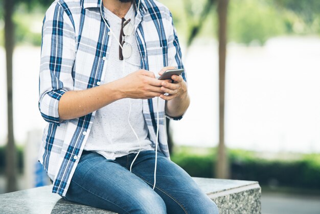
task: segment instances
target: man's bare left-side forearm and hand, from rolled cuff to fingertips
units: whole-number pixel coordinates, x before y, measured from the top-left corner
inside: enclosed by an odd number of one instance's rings
[[[139,70],[128,76],[81,91],[67,91],[59,101],[61,120],[79,118],[122,98],[149,99],[158,97],[163,82],[150,71]]]

